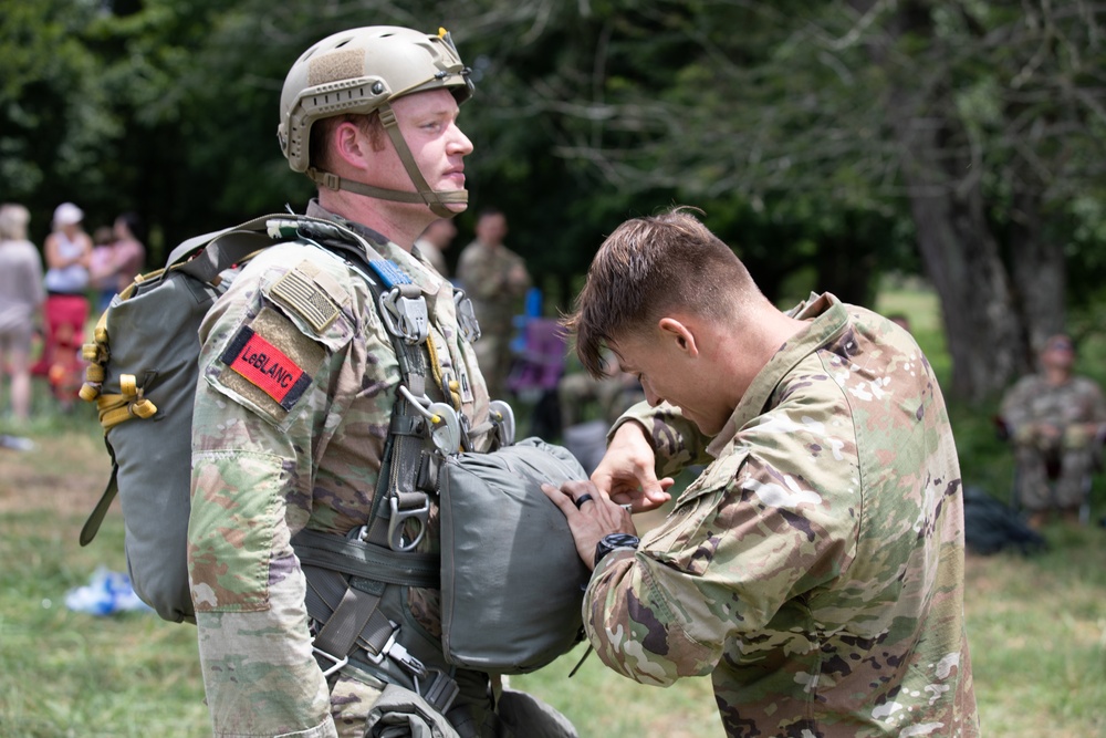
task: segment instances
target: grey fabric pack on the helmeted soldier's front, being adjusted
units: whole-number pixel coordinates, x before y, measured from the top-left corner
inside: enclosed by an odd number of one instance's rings
[[[580,642],[591,572],[541,485],[586,478],[572,454],[539,438],[446,459],[441,640],[451,664],[522,674]]]

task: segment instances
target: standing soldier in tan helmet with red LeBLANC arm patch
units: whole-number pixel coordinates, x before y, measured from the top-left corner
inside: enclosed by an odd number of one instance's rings
[[[445,31],[336,33],[289,71],[278,137],[290,167],[319,185],[306,215],[355,231],[418,287],[436,370],[425,392],[477,427],[489,397],[452,285],[413,249],[434,220],[467,207],[468,75]],[[243,336],[280,356],[303,392],[248,381],[228,351]],[[359,642],[331,654],[313,642],[323,634],[305,605],[312,580],[291,539],[365,532],[403,368],[355,268],[303,240],[276,243],[234,277],[199,337],[188,559],[215,735],[430,735],[400,734],[396,721],[429,721],[441,736],[574,735],[563,723],[512,727],[498,679],[444,661],[437,589],[405,590],[403,623],[386,624],[407,652],[389,641],[376,654]],[[437,520],[435,503],[417,552],[437,553]],[[404,634],[432,645],[418,654],[422,671]]]

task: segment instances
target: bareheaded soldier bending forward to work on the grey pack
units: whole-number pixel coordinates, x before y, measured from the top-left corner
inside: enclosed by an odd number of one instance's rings
[[[592,568],[584,627],[617,673],[710,675],[748,736],[979,736],[960,468],[901,328],[830,293],[779,310],[686,209],[604,241],[565,321],[647,403],[592,481],[543,487]],[[707,465],[662,522],[671,475]]]

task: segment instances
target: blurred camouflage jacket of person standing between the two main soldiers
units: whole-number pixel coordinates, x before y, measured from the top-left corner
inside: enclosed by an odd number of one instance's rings
[[[519,298],[530,288],[529,274],[515,280],[511,271],[525,262],[505,246],[490,249],[481,241],[472,241],[457,261],[457,280],[472,300],[480,329],[489,334],[511,332],[511,320],[518,311]]]

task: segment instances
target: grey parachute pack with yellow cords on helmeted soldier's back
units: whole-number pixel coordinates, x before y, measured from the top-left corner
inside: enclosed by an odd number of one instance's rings
[[[116,493],[135,592],[161,617],[192,620],[185,562],[196,331],[226,289],[219,273],[272,240],[267,218],[186,241],[167,268],[138,277],[101,316],[85,344],[87,382],[112,455],[107,488],[84,529],[87,545]],[[259,230],[260,229],[260,230]],[[201,257],[192,259],[197,250]]]

